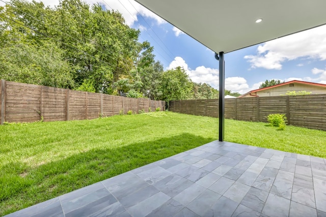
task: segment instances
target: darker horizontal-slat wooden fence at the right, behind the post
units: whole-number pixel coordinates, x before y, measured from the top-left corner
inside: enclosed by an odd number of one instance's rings
[[[219,99],[170,101],[173,112],[219,117]],[[225,99],[225,118],[266,122],[268,114],[285,114],[289,125],[326,130],[326,95]]]

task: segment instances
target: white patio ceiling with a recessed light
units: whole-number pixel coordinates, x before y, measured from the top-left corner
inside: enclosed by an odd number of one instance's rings
[[[326,0],[136,0],[215,52],[326,24]],[[255,21],[262,18],[262,22]]]

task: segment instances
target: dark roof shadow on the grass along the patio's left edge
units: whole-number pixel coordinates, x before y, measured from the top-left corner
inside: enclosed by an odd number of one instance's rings
[[[0,179],[2,189],[0,215],[60,196],[213,140],[185,133],[116,148],[91,149],[37,168],[29,168],[21,163],[5,165],[2,167],[4,176]]]

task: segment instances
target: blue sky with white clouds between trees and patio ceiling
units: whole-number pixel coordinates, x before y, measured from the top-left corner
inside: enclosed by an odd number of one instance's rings
[[[165,69],[182,66],[195,82],[218,88],[219,63],[214,53],[133,0],[86,0],[118,10],[126,24],[141,30],[140,41],[154,46]],[[58,0],[44,0],[53,7]],[[225,88],[244,94],[266,79],[326,84],[326,26],[262,43],[225,55]]]

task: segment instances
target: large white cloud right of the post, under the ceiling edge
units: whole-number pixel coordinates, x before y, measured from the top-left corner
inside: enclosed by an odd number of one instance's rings
[[[251,68],[276,70],[282,69],[284,61],[298,57],[326,60],[326,25],[263,43],[256,55],[244,56]]]

